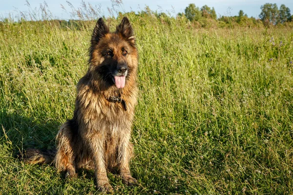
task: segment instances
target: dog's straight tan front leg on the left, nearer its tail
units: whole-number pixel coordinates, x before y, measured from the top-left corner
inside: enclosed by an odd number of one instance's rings
[[[100,133],[90,135],[85,139],[87,147],[95,166],[96,188],[102,192],[112,192],[113,188],[109,183],[105,166],[105,154],[103,148],[103,137]]]

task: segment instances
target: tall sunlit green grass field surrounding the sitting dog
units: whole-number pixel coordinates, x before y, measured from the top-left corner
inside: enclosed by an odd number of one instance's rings
[[[293,194],[293,30],[128,17],[140,55],[131,172],[141,185],[109,174],[115,194]],[[15,157],[55,148],[93,26],[2,24],[0,194],[99,194],[93,172],[65,180]]]

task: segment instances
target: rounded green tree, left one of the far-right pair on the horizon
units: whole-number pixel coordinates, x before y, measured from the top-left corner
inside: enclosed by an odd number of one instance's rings
[[[277,4],[266,3],[260,7],[260,20],[265,24],[277,24],[279,22],[279,9]]]

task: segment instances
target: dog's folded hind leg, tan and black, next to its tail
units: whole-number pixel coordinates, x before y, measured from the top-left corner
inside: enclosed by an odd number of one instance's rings
[[[55,166],[58,171],[65,171],[65,177],[76,177],[76,144],[70,121],[65,122],[57,134],[57,154]]]

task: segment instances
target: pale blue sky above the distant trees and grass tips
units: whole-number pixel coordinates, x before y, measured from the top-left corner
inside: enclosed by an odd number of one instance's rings
[[[75,7],[81,7],[82,0],[68,0]],[[84,0],[85,3],[91,5],[101,6],[101,16],[109,16],[107,8],[111,8],[113,0]],[[217,16],[236,16],[239,10],[243,10],[248,17],[258,18],[260,14],[260,6],[265,3],[276,3],[278,7],[285,4],[290,8],[293,14],[293,0],[122,0],[123,5],[119,8],[121,11],[139,11],[149,6],[151,10],[158,12],[170,13],[175,16],[179,12],[184,12],[189,3],[194,3],[197,7],[208,5],[214,7]],[[31,8],[40,8],[43,0],[28,0]],[[66,0],[46,0],[49,10],[53,14],[54,19],[69,20],[71,8]],[[67,10],[67,13],[62,9],[61,4]],[[0,0],[0,19],[7,18],[9,13],[11,16],[16,17],[18,13],[27,12],[29,7],[26,0]]]

